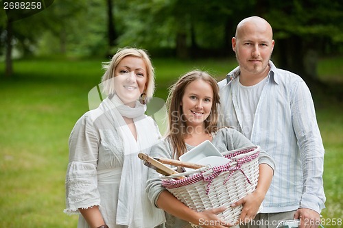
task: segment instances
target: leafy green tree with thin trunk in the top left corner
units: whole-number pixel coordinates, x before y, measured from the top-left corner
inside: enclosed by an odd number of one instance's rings
[[[9,10],[0,14],[1,46],[5,48],[5,76],[12,75],[12,49],[15,44],[23,56],[31,55],[36,51],[36,44],[46,31],[61,39],[60,47],[63,50],[66,24],[71,15],[80,9],[81,0],[42,1],[42,11],[32,14],[30,10]],[[49,7],[49,5],[51,5]],[[45,7],[44,7],[45,6]]]

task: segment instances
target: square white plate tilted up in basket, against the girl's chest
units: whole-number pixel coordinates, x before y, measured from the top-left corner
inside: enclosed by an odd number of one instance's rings
[[[216,156],[216,157],[223,157],[222,153],[213,146],[212,142],[206,140],[198,146],[194,147],[187,153],[181,155],[179,157],[180,161],[182,162],[191,162],[198,164],[198,161],[202,160],[205,157]],[[192,170],[191,168],[185,168],[187,171]]]

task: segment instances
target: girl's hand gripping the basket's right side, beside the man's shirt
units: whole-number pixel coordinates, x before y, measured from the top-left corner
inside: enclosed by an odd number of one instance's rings
[[[248,223],[253,220],[259,211],[259,207],[264,199],[264,194],[259,194],[257,190],[251,194],[247,194],[239,201],[233,203],[232,207],[243,205],[241,215],[239,216],[239,223]]]

